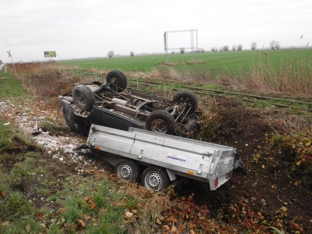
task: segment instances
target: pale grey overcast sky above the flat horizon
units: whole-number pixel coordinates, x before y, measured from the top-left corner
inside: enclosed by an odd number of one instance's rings
[[[302,34],[299,45],[311,45],[312,0],[0,0],[0,59],[9,61],[7,50],[15,61],[49,50],[62,59],[162,53],[164,31],[183,29],[197,29],[206,50],[293,46]],[[189,46],[185,37],[169,46]]]

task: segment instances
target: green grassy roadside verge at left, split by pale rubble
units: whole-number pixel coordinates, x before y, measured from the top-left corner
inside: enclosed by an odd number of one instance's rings
[[[23,104],[27,91],[9,77],[0,79],[1,100]],[[85,166],[81,176],[78,164],[52,159],[7,122],[0,117],[0,233],[147,233],[169,201],[95,169],[103,168],[101,161]]]

